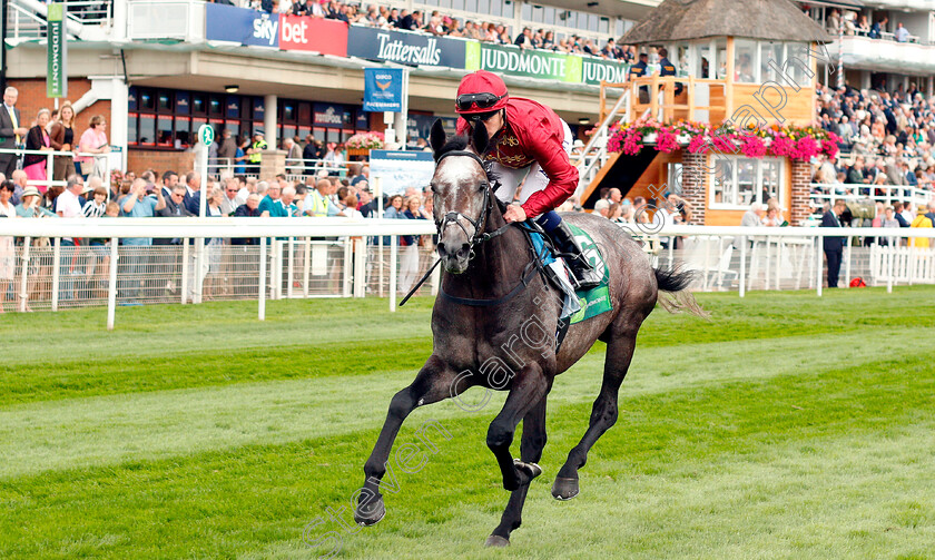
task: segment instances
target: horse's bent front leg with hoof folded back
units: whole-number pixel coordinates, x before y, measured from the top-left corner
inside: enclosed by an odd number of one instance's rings
[[[503,410],[490,423],[486,443],[496,458],[503,474],[503,488],[506,490],[516,490],[542,473],[535,464],[514,463],[510,454],[510,444],[513,443],[513,433],[520,420],[539,404],[549,393],[549,389],[551,380],[545,377],[542,367],[534,362],[526,364],[513,380]]]

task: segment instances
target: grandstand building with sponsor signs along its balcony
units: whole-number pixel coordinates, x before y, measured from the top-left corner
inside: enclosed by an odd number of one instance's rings
[[[525,27],[552,31],[557,42],[578,36],[599,49],[657,3],[613,0],[589,3],[587,11],[563,0],[407,0],[393,6],[502,24],[511,38]],[[204,124],[245,136],[264,128],[270,146],[285,137],[342,141],[357,131],[383,130],[382,114],[362,110],[366,67],[411,70],[410,141],[427,136],[436,117],[453,124],[454,91],[469,70],[502,72],[514,95],[535,98],[572,128],[583,129],[596,117],[600,80],[619,80],[627,69],[623,61],[599,57],[201,0],[79,0],[68,6],[67,97],[79,111],[78,128],[91,115],[104,115],[112,145],[126,155],[119,165],[130,169],[190,168],[189,148]],[[46,13],[47,4],[37,0],[8,6],[6,78],[21,91],[19,108],[30,118],[56,105],[45,92]]]

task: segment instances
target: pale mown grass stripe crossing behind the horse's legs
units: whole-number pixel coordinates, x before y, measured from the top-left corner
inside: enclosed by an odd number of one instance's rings
[[[863,334],[787,337],[768,348],[757,341],[693,344],[678,354],[640,348],[622,393],[809,374],[840,360],[856,366],[894,345],[921,343],[933,334],[935,330],[894,330],[870,341]],[[829,354],[829,346],[850,350]],[[751,356],[758,363],[749,363]],[[589,372],[600,371],[602,362],[603,356],[589,355],[560,376],[550,401],[592,401],[600,376]],[[724,363],[737,367],[725,369]],[[381,372],[357,376],[353,385],[346,377],[303,379],[7,406],[0,409],[0,456],[6,458],[0,478],[353,433],[380,425],[390,397],[413,377],[414,371]],[[464,400],[480,399],[478,391]],[[502,399],[498,395],[490,411],[498,410]],[[452,402],[426,411],[442,419],[465,414]]]

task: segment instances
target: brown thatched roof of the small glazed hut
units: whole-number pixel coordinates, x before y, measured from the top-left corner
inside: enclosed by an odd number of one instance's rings
[[[633,26],[623,45],[662,45],[709,37],[831,41],[791,0],[666,0]]]

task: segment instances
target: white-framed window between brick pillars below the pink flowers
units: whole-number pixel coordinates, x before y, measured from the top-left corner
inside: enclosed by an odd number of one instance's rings
[[[713,154],[711,164],[709,204],[712,208],[746,208],[754,203],[766,204],[770,198],[776,198],[779,206],[786,206],[783,159]]]

